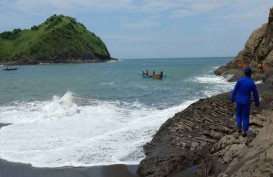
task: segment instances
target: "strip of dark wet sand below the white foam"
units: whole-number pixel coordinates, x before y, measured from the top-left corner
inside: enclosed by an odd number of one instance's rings
[[[137,165],[36,168],[0,159],[0,177],[135,177]]]

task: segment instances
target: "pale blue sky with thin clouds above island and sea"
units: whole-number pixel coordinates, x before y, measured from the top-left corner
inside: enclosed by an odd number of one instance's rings
[[[63,14],[119,59],[236,56],[271,7],[273,0],[0,0],[0,32]]]

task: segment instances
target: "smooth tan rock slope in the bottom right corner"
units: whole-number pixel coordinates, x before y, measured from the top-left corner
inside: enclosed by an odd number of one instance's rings
[[[273,111],[267,112],[270,117],[260,133],[233,159],[224,172],[231,177],[272,176],[273,174]]]

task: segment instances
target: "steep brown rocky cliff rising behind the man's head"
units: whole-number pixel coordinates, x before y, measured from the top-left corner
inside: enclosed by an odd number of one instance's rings
[[[260,72],[258,64],[265,65]],[[273,8],[270,9],[268,22],[255,30],[245,44],[245,48],[226,66],[215,70],[217,75],[233,74],[232,80],[242,75],[242,66],[246,64],[253,69],[254,80],[265,80],[273,71]]]

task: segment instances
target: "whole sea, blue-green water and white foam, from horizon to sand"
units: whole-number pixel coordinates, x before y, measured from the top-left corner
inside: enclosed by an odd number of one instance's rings
[[[20,65],[0,71],[0,158],[35,167],[138,164],[175,113],[234,83],[231,57]],[[4,68],[4,66],[0,66]],[[142,72],[164,72],[160,79]]]

